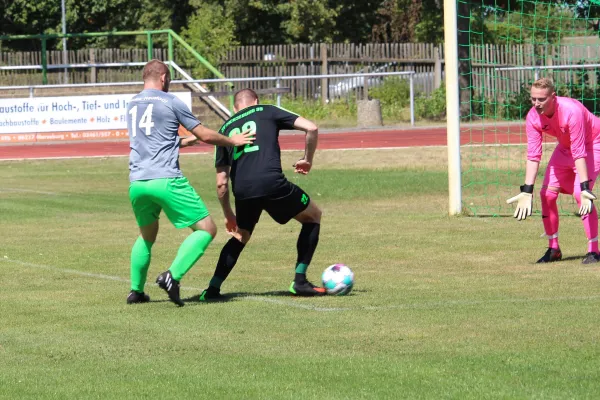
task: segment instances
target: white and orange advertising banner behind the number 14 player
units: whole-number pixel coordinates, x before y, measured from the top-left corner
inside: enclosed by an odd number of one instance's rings
[[[191,110],[190,92],[175,92]],[[127,138],[136,94],[0,99],[0,144]]]

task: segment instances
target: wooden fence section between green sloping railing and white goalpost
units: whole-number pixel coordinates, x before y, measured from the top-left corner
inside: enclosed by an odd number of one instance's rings
[[[439,86],[442,74],[439,48],[428,43],[241,46],[228,52],[220,70],[231,78],[415,71],[415,87],[425,93]],[[344,80],[330,79],[329,85],[333,89]],[[291,89],[296,96],[310,98],[319,95],[322,84],[321,80],[299,80]],[[252,82],[250,87],[263,89],[268,85],[271,83]],[[331,92],[330,96],[340,94]]]

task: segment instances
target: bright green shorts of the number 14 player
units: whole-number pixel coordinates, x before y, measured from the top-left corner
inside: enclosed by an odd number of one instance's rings
[[[161,210],[175,228],[187,228],[210,214],[187,178],[162,178],[133,181],[129,200],[138,226],[158,220]]]

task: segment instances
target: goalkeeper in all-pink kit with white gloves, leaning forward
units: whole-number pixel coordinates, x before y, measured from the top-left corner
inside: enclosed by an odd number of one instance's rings
[[[598,250],[598,212],[592,193],[600,172],[600,119],[579,101],[559,97],[552,80],[541,78],[531,87],[531,104],[527,114],[527,167],[521,193],[508,199],[517,203],[515,218],[524,220],[531,215],[533,185],[542,158],[542,135],[558,139],[550,157],[540,190],[542,222],[548,237],[548,250],[538,263],[559,261],[562,252],[558,244],[559,193],[573,195],[588,239],[583,264],[600,261]]]

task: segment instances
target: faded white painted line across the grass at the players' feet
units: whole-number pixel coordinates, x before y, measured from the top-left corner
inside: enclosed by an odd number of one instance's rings
[[[24,267],[45,269],[49,271],[85,276],[89,278],[117,281],[122,283],[129,283],[128,279],[121,278],[118,276],[105,275],[105,274],[94,274],[91,272],[78,271],[75,269],[58,268],[51,265],[34,264],[26,261],[12,260],[4,256],[0,258],[0,261],[21,265]],[[153,286],[157,286],[153,284]],[[181,286],[181,289],[188,291],[195,291],[200,293],[203,289],[194,288],[190,286]],[[271,303],[285,307],[299,308],[309,311],[318,312],[332,312],[332,311],[383,311],[383,310],[417,310],[417,309],[439,309],[448,307],[468,307],[468,306],[486,306],[491,304],[527,304],[527,303],[552,303],[561,301],[597,301],[600,300],[600,296],[573,296],[573,297],[539,297],[532,299],[498,299],[498,300],[444,300],[444,301],[430,301],[424,303],[411,303],[411,304],[396,304],[389,306],[364,306],[364,307],[319,307],[311,304],[299,304],[293,301],[278,300],[268,296],[237,296],[235,299],[259,301],[262,303]]]

